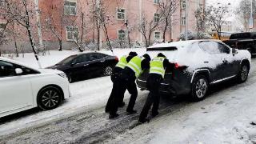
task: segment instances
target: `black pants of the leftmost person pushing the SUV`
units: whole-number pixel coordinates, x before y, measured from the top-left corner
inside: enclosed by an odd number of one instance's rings
[[[110,107],[111,107],[112,102],[114,101],[114,98],[115,98],[114,94],[117,94],[119,75],[120,74],[112,74],[111,77],[110,77],[111,81],[113,82],[113,88],[112,88],[112,91],[111,91],[111,94],[110,94],[110,98],[108,99],[108,101],[106,103],[106,107],[105,107],[106,112],[110,111]],[[121,103],[119,103],[119,104],[121,104]]]

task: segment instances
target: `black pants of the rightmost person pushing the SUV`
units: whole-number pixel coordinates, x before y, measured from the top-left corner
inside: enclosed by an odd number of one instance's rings
[[[159,87],[162,82],[162,76],[160,74],[150,74],[149,78],[146,81],[146,86],[148,90],[150,90],[150,94],[146,98],[146,103],[143,106],[142,112],[139,116],[139,121],[143,121],[147,114],[149,113],[150,107],[153,104],[152,107],[152,114],[158,113],[158,107],[159,107]]]

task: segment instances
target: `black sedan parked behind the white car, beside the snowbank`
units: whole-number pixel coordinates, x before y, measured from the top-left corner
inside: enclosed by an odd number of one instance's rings
[[[63,59],[54,66],[47,68],[62,70],[66,73],[69,82],[82,78],[91,78],[96,75],[111,75],[118,58],[102,53],[74,54]]]

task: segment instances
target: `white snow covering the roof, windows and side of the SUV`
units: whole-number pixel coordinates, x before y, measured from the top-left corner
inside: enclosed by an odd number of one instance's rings
[[[158,53],[162,52],[166,55],[166,58],[170,62],[178,63],[180,66],[188,66],[187,72],[193,74],[194,70],[202,67],[210,67],[216,69],[217,66],[222,64],[223,60],[226,59],[227,62],[233,62],[235,60],[242,60],[247,58],[250,60],[250,53],[247,50],[238,50],[238,54],[233,56],[232,51],[230,54],[221,53],[218,49],[218,40],[206,40],[207,42],[202,42],[202,40],[191,40],[191,41],[179,41],[170,43],[161,43],[149,47],[148,53],[150,57],[154,58]],[[199,42],[200,46],[199,46]],[[202,46],[201,46],[202,45]],[[160,48],[160,47],[177,47],[178,50],[161,51],[154,50],[150,51],[150,48]],[[202,49],[201,49],[202,47]]]

